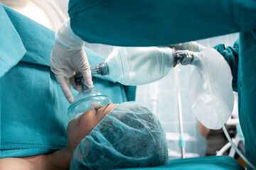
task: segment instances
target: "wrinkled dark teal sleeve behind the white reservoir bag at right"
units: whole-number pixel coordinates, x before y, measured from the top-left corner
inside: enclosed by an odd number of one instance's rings
[[[235,41],[233,47],[225,47],[224,44],[216,45],[215,50],[223,55],[225,60],[230,65],[231,73],[233,76],[232,87],[233,91],[238,92],[238,49],[239,49],[239,39]]]

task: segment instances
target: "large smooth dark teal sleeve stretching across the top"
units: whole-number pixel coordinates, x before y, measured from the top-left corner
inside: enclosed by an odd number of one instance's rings
[[[86,42],[171,45],[256,28],[254,0],[70,0],[73,32]]]

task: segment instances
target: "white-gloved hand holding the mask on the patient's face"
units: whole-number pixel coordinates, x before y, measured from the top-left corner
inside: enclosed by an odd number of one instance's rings
[[[74,98],[70,90],[70,81],[74,89],[81,87],[75,84],[75,72],[79,69],[85,80],[85,85],[92,88],[92,74],[90,65],[83,49],[85,44],[70,28],[70,21],[66,21],[55,35],[55,44],[50,54],[50,69],[60,84],[63,94],[72,103]]]

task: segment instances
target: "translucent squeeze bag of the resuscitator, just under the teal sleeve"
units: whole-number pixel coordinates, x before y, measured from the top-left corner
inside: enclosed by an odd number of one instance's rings
[[[105,62],[91,70],[124,85],[149,84],[170,72],[174,56],[170,47],[116,47]]]

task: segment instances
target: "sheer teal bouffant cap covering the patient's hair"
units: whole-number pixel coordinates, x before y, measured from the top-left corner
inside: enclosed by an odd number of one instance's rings
[[[75,149],[70,169],[120,169],[169,164],[156,115],[136,102],[119,104]]]

